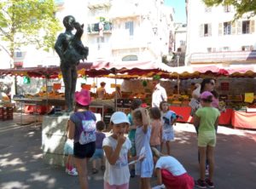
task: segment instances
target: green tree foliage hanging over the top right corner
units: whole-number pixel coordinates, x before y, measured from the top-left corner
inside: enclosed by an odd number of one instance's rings
[[[217,6],[219,4],[230,4],[236,8],[235,19],[241,18],[243,14],[248,13],[248,16],[256,14],[256,0],[203,0],[207,6]]]

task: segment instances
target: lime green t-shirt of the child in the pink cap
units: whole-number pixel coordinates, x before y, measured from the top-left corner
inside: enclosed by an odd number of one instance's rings
[[[214,124],[216,122],[217,117],[219,117],[220,113],[218,109],[215,107],[201,107],[196,112],[195,115],[200,117],[200,124],[198,132],[202,131],[214,131]]]

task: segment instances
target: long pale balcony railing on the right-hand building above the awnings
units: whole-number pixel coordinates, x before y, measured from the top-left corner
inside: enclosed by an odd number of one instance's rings
[[[230,51],[216,53],[195,53],[190,56],[190,63],[220,63],[255,61],[256,51]]]

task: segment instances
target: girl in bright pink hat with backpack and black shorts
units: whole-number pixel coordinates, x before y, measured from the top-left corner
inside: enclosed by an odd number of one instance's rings
[[[89,111],[90,91],[75,93],[75,112],[70,116],[68,138],[74,140],[73,156],[81,188],[89,188],[87,162],[96,150],[96,116]]]

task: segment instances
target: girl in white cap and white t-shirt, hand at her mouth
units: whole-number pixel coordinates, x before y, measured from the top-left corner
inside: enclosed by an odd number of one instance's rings
[[[128,158],[131,141],[124,136],[129,124],[124,112],[114,112],[110,118],[113,134],[102,143],[107,158],[104,189],[129,189]]]

